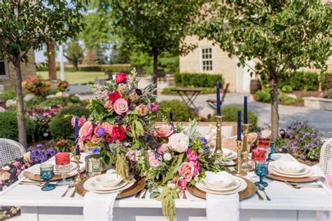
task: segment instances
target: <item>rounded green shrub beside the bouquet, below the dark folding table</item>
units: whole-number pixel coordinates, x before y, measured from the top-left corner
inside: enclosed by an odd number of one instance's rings
[[[160,102],[160,108],[169,108],[173,112],[174,121],[185,121],[187,122],[189,118],[195,117],[184,101],[180,100],[171,100],[171,101],[162,101]]]

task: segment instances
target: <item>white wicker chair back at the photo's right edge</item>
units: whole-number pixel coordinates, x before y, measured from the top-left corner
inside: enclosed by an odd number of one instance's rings
[[[321,147],[319,166],[325,175],[332,176],[332,138],[327,139]]]

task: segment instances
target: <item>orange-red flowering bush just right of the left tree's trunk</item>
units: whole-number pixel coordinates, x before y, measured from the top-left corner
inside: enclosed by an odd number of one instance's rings
[[[22,87],[37,96],[46,96],[46,93],[50,90],[50,81],[39,78],[28,78],[22,82]]]

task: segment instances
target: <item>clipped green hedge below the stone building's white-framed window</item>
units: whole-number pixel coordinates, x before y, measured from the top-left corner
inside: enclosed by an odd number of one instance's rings
[[[187,87],[216,87],[216,82],[223,84],[221,74],[207,73],[176,73],[175,83],[177,86]]]

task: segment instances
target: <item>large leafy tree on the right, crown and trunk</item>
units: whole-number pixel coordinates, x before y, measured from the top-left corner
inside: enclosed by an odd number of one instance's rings
[[[195,33],[239,58],[256,62],[271,93],[272,136],[279,130],[278,81],[306,66],[325,70],[331,55],[332,5],[320,0],[214,1]]]

